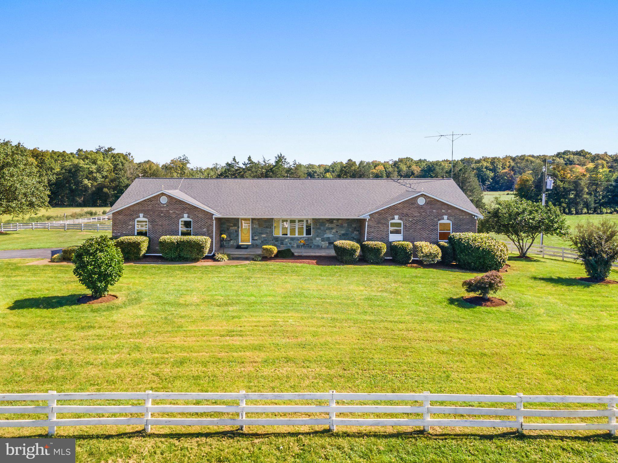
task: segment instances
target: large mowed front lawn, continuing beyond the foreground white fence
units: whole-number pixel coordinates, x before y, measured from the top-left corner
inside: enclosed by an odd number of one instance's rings
[[[618,285],[512,259],[506,306],[461,301],[474,273],[401,266],[126,265],[78,306],[71,265],[0,261],[0,391],[618,393]],[[613,272],[612,278],[618,279]],[[497,405],[499,406],[499,405]],[[23,416],[23,415],[22,415]],[[69,417],[70,415],[65,415]],[[7,417],[4,415],[4,417]],[[34,417],[34,415],[31,415]],[[0,436],[42,428],[0,428]],[[60,427],[79,462],[615,462],[603,432]]]

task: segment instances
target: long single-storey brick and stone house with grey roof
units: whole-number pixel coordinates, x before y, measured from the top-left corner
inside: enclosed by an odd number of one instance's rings
[[[212,238],[226,248],[332,248],[337,240],[446,241],[481,213],[451,178],[137,178],[110,209],[112,236]]]

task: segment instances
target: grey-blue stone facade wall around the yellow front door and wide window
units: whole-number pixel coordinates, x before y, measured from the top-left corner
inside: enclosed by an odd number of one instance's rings
[[[226,247],[235,248],[239,243],[239,219],[218,219],[220,233],[227,235]],[[274,236],[274,219],[251,220],[251,247],[272,244],[277,248],[298,248],[298,241],[305,240],[305,248],[332,248],[337,240],[360,242],[365,233],[364,219],[312,219],[311,236]]]

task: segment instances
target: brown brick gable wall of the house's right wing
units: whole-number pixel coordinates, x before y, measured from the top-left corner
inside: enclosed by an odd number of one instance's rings
[[[370,215],[367,224],[367,240],[389,242],[389,222],[399,220],[404,223],[404,241],[428,241],[438,243],[438,221],[447,216],[452,222],[452,233],[464,231],[476,232],[476,217],[469,212],[449,206],[438,199],[423,196],[425,204],[421,206],[415,198],[400,202]]]

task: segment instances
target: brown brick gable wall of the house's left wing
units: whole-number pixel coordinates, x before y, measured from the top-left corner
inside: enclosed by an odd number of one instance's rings
[[[193,219],[193,235],[210,236],[213,238],[213,214],[198,207],[180,201],[180,199],[167,196],[167,203],[161,204],[158,194],[152,198],[125,207],[121,211],[112,214],[112,237],[135,235],[135,219],[143,214],[148,219],[148,245],[149,254],[159,253],[159,238],[167,235],[179,234],[179,221],[187,214],[188,219]],[[208,252],[213,251],[211,241]]]

